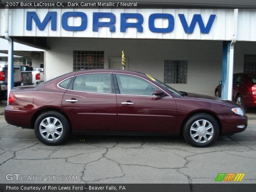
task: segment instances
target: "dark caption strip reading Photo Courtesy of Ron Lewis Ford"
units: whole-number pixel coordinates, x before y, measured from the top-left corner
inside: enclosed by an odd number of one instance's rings
[[[0,184],[0,192],[255,192],[256,184]]]

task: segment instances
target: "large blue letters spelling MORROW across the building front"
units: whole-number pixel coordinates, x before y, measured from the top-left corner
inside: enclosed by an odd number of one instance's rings
[[[39,30],[44,30],[46,25],[51,22],[51,30],[56,31],[57,28],[57,12],[47,12],[42,21],[38,18],[35,11],[28,11],[26,14],[26,30],[32,30],[32,22],[34,21]],[[212,24],[216,17],[211,14],[208,22],[204,24],[201,14],[194,14],[190,23],[188,23],[184,14],[178,14],[185,33],[192,34],[196,24],[200,28],[200,32],[208,34],[212,28]],[[80,26],[68,25],[69,17],[80,17]],[[100,21],[100,18],[108,18],[108,22]],[[136,19],[136,22],[128,22],[129,18]],[[156,19],[166,19],[168,26],[166,28],[157,28],[155,26]],[[87,28],[88,17],[84,12],[64,12],[61,16],[61,25],[67,31],[84,31]],[[120,32],[126,32],[127,28],[136,28],[138,32],[143,32],[144,17],[139,13],[121,13],[120,14]],[[108,27],[110,32],[116,32],[116,15],[111,12],[93,12],[92,31],[98,32],[99,27]],[[153,13],[148,17],[148,28],[155,33],[170,33],[174,30],[174,16],[167,13]]]

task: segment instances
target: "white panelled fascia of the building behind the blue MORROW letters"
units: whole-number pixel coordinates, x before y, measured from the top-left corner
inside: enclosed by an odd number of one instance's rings
[[[42,21],[46,14],[57,13],[56,30],[51,30],[49,22],[44,30],[39,30],[35,22],[32,22],[32,30],[26,30],[27,12],[36,11],[38,18]],[[64,12],[84,12],[88,18],[87,28],[83,31],[66,31],[62,28],[61,18]],[[150,38],[150,39],[193,39],[193,40],[232,40],[233,37],[233,9],[10,9],[9,10],[9,35],[10,36],[44,36],[44,37],[86,37],[86,38]],[[100,27],[98,32],[92,30],[93,12],[110,12],[116,16],[116,31],[110,32],[108,27]],[[120,14],[121,13],[140,13],[144,18],[143,32],[137,32],[136,28],[128,28],[126,32],[120,32]],[[148,18],[150,14],[166,13],[174,16],[174,30],[168,33],[151,32],[148,28]],[[192,34],[184,32],[178,14],[184,14],[188,25],[190,26],[194,14],[201,14],[204,25],[209,20],[211,14],[216,15],[209,34],[200,33],[198,24]],[[109,18],[102,18],[100,21],[108,21]],[[4,36],[6,15],[5,10],[0,9],[0,36]],[[132,18],[128,22],[134,22]],[[256,10],[239,9],[238,11],[238,33],[237,39],[244,41],[256,41]],[[80,26],[80,17],[70,17],[69,26]],[[156,19],[157,28],[166,28],[168,21],[166,19]],[[18,30],[17,30],[18,29]]]

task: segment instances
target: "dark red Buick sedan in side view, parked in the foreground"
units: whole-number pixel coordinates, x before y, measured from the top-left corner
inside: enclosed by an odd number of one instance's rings
[[[196,147],[242,132],[244,110],[216,97],[179,92],[148,74],[82,70],[12,89],[4,116],[47,145],[79,134],[183,134]]]

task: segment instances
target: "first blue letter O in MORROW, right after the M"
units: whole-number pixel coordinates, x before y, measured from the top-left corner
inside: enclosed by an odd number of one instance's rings
[[[69,26],[68,17],[80,17],[81,25]],[[84,12],[65,12],[64,14],[62,14],[61,24],[62,28],[67,31],[83,31],[87,27],[87,16]]]

